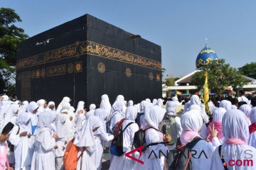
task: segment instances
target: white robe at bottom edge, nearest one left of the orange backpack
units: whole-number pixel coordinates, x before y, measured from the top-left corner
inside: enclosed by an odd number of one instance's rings
[[[31,170],[55,170],[55,140],[50,130],[41,133],[42,142],[35,142]]]

